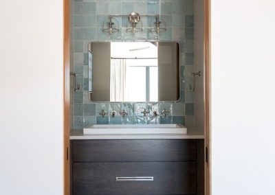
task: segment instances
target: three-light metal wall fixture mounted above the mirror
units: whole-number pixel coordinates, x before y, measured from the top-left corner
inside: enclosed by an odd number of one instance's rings
[[[126,32],[131,33],[131,34],[135,34],[137,32],[142,32],[143,30],[143,26],[142,26],[142,21],[141,21],[141,17],[155,17],[155,20],[151,23],[151,29],[150,32],[153,34],[160,34],[162,32],[166,31],[166,27],[165,27],[165,23],[163,23],[162,21],[159,21],[159,14],[155,14],[155,15],[140,15],[137,12],[131,12],[128,15],[110,15],[109,16],[109,21],[103,23],[103,29],[102,32],[104,32],[105,34],[115,34],[117,32],[119,32],[119,24],[118,21],[115,20],[115,17],[122,17],[122,16],[128,16],[128,21],[129,24],[126,27]],[[116,21],[116,24],[113,22]]]

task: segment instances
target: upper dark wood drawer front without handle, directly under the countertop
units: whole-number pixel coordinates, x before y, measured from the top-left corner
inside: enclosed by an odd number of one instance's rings
[[[72,140],[72,161],[196,161],[196,150],[195,139]]]

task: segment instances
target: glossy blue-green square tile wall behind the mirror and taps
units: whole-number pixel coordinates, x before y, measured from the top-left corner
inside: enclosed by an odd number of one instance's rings
[[[77,73],[80,90],[72,92],[71,125],[83,128],[89,124],[194,124],[194,94],[189,85],[193,83],[190,73],[194,65],[194,16],[192,0],[71,0],[72,1],[72,66]],[[166,24],[166,32],[155,35],[148,31],[152,19],[142,18],[143,31],[135,35],[125,32],[126,17],[118,18],[121,30],[114,36],[102,33],[102,23],[109,14],[160,14]],[[181,99],[179,102],[129,102],[96,103],[88,100],[88,45],[93,41],[177,41],[181,45]],[[146,117],[141,111],[146,108]],[[107,115],[102,117],[104,109]],[[164,109],[167,115],[161,115]],[[119,113],[125,110],[128,115]],[[111,111],[118,114],[111,116]],[[157,111],[155,117],[153,111]]]

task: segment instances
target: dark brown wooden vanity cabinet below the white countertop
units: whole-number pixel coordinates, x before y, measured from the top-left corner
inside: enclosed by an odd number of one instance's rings
[[[203,139],[72,140],[72,194],[203,194]]]

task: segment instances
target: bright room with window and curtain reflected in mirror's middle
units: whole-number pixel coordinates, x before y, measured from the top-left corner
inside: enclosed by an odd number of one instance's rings
[[[110,102],[157,102],[157,45],[111,43]]]

